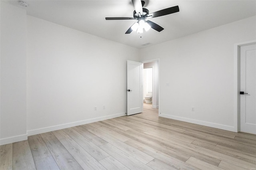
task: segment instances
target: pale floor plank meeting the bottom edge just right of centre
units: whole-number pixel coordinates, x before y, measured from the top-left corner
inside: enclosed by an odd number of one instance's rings
[[[143,170],[152,170],[150,167],[146,166],[139,160],[133,158],[129,154],[126,154],[122,150],[116,148],[112,144],[104,144],[100,146],[105,152],[110,154],[113,158],[124,164],[124,166],[128,167],[129,169],[143,169]]]

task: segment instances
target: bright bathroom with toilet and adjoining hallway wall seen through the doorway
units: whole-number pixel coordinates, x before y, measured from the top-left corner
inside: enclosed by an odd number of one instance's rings
[[[143,101],[158,108],[158,61],[143,64]]]

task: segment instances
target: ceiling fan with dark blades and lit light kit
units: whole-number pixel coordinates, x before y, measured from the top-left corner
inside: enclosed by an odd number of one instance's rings
[[[106,17],[106,20],[138,20],[138,22],[135,22],[127,31],[125,34],[130,34],[132,31],[137,31],[138,33],[142,33],[143,30],[148,31],[150,28],[153,28],[154,30],[160,32],[164,30],[161,26],[158,24],[149,21],[149,18],[156,18],[158,16],[164,16],[168,14],[172,14],[175,12],[179,12],[179,6],[173,6],[170,8],[166,8],[160,11],[156,11],[149,14],[149,10],[146,8],[142,8],[145,4],[145,1],[140,0],[132,0],[132,4],[135,8],[133,12],[133,18],[129,17]]]

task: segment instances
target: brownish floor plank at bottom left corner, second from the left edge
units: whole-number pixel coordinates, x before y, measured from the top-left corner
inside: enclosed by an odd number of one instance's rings
[[[34,170],[36,169],[28,140],[12,144],[13,169]]]

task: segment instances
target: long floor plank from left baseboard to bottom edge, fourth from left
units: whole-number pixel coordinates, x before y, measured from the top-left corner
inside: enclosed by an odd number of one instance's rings
[[[60,169],[83,169],[54,134],[47,136],[43,140]]]

